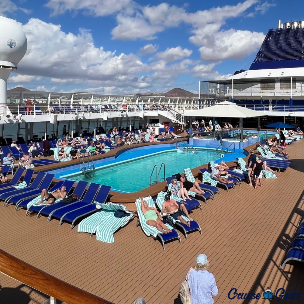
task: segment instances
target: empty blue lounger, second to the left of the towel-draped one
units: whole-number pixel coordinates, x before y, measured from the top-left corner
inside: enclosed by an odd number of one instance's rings
[[[70,204],[65,204],[64,207],[51,212],[47,219],[47,222],[49,222],[52,218],[57,218],[60,220],[67,212],[74,211],[75,209],[78,209],[85,204],[92,204],[92,202],[94,202],[98,188],[98,184],[91,183],[82,199],[79,198],[78,201],[72,202]]]

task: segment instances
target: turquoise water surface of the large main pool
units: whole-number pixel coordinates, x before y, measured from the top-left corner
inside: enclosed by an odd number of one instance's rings
[[[182,173],[185,168],[195,168],[209,161],[214,161],[220,156],[212,151],[182,152],[170,150],[157,155],[146,155],[144,158],[130,160],[123,164],[113,164],[111,167],[100,168],[86,174],[66,175],[74,181],[88,181],[102,185],[112,186],[113,190],[124,192],[136,192],[149,187],[150,174],[154,165],[158,168],[165,164],[166,177],[172,174]],[[163,171],[159,174],[163,177]],[[155,180],[155,174],[152,180]],[[161,179],[162,181],[162,179]]]

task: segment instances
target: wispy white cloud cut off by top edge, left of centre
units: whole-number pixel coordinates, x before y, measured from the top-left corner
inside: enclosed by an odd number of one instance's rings
[[[64,14],[66,11],[82,11],[86,15],[106,16],[130,9],[132,0],[49,0],[45,5],[51,9],[51,15]]]

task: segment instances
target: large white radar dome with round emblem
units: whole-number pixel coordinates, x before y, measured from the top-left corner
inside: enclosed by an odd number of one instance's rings
[[[27,40],[21,26],[0,16],[0,65],[17,67],[27,50]]]

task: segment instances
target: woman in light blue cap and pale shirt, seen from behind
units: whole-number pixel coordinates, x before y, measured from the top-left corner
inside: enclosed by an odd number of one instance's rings
[[[213,304],[212,296],[218,294],[214,275],[208,272],[209,261],[206,254],[199,254],[195,260],[195,268],[187,273],[192,304]]]

